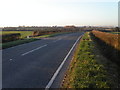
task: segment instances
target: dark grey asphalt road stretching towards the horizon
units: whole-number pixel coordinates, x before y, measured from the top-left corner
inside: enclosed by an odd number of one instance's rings
[[[2,87],[45,88],[82,34],[80,32],[63,34],[4,49]],[[66,57],[61,68],[68,67],[70,60],[67,59],[69,58]],[[60,74],[63,75],[63,72],[65,70],[60,70],[54,79],[61,77]],[[58,78],[58,81],[60,80]],[[50,87],[54,88],[52,84]]]

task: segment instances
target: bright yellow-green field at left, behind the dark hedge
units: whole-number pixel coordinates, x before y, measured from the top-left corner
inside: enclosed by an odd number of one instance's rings
[[[20,33],[21,38],[32,35],[33,31],[0,31],[0,34],[9,34],[9,33]]]

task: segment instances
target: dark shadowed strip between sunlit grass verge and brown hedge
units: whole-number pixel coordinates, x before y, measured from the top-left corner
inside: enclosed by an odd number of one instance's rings
[[[115,63],[115,59],[117,57],[111,60],[112,59],[111,57],[113,57],[115,54],[114,53],[115,48],[112,48],[112,52],[110,52],[111,51],[110,46],[106,46],[106,44],[103,42],[100,43],[99,40],[96,39],[96,37],[94,37],[92,34],[90,35],[91,35],[91,39],[94,42],[93,50],[96,55],[96,60],[100,64],[102,64],[105,70],[107,71],[107,77],[109,79],[109,82],[111,82],[111,84],[109,85],[110,88],[120,88],[120,67],[118,65],[119,63],[117,64]],[[108,55],[110,57],[108,57]]]

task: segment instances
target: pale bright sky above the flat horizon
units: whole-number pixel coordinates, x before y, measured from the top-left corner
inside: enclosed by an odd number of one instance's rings
[[[117,26],[119,0],[0,0],[0,27]]]

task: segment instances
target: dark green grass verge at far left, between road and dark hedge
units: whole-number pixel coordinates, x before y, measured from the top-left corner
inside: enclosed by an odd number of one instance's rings
[[[31,38],[31,39],[23,39],[23,40],[16,40],[16,41],[12,41],[12,42],[2,43],[0,45],[2,46],[2,49],[5,49],[5,48],[20,45],[20,44],[36,41],[36,40],[38,40],[38,39],[33,39],[33,38]]]

